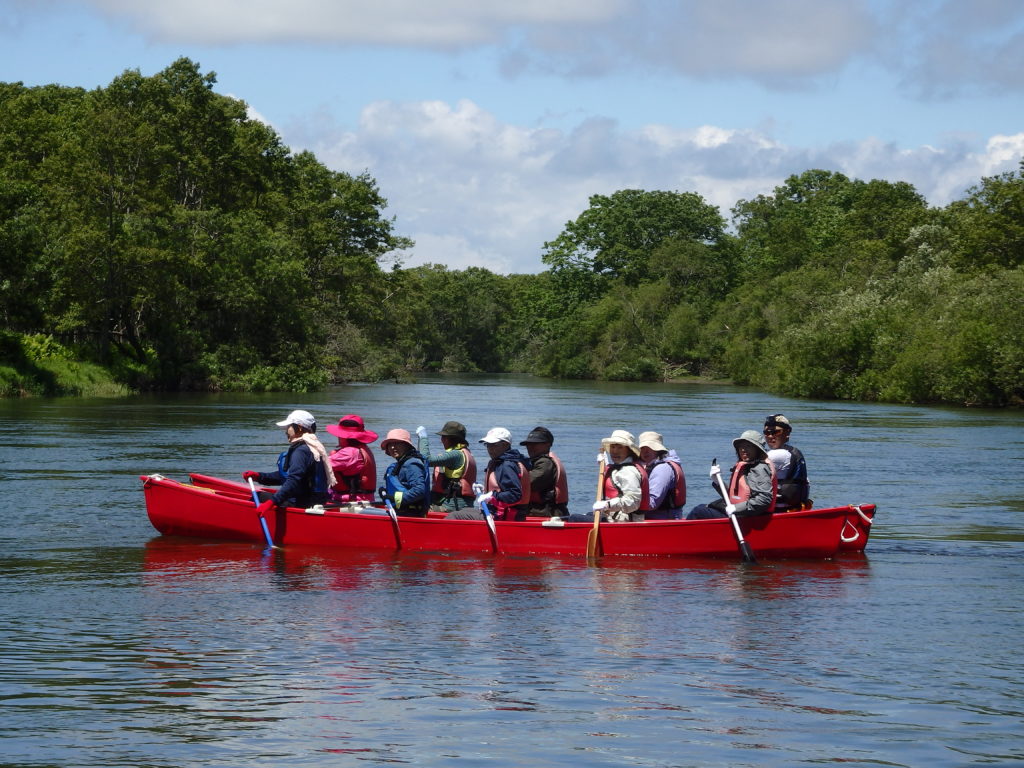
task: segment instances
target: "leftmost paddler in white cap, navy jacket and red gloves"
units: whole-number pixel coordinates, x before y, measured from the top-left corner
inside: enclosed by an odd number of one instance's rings
[[[280,485],[274,494],[260,494],[260,516],[278,507],[312,507],[327,502],[328,488],[334,485],[334,472],[327,449],[316,437],[316,419],[308,411],[293,411],[284,421],[288,447],[278,457],[276,472],[246,471],[242,477],[261,485]]]

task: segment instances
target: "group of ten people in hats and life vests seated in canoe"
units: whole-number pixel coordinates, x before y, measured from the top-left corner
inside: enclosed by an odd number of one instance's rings
[[[729,514],[760,515],[808,509],[807,465],[790,443],[793,425],[782,414],[765,419],[762,433],[746,430],[734,439],[736,463],[728,485],[715,475],[718,498],[685,513],[686,478],[678,455],[660,434],[641,432],[638,438],[616,429],[602,440],[602,477],[597,501],[585,513],[568,511],[568,478],[552,451],[554,436],[538,426],[515,447],[504,427],[494,427],[479,439],[487,453],[477,472],[466,427],[450,421],[435,434],[440,449],[432,452],[425,427],[417,427],[416,442],[406,429],[392,429],[380,450],[392,463],[377,484],[377,461],[370,445],[378,434],[366,428],[361,417],[343,416],[327,431],[338,438],[328,451],[316,436],[316,420],[308,411],[293,411],[279,427],[288,447],[273,472],[246,471],[246,480],[279,486],[263,492],[260,514],[273,507],[330,506],[380,499],[398,515],[424,517],[429,512],[454,519],[482,519],[484,510],[497,519],[562,517],[569,522],[594,520],[705,519]],[[521,450],[520,450],[521,449]]]

